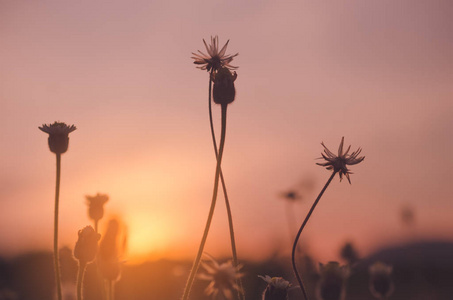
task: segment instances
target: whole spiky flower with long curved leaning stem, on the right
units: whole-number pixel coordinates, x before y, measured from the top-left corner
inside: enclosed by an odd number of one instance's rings
[[[303,221],[302,225],[299,228],[299,231],[297,232],[296,239],[294,240],[293,243],[293,249],[291,253],[291,261],[293,265],[293,270],[294,274],[296,275],[296,279],[299,282],[300,288],[302,290],[302,293],[304,294],[305,299],[308,299],[307,292],[305,291],[304,284],[302,282],[302,279],[300,278],[299,272],[297,271],[296,267],[296,261],[295,261],[295,254],[296,254],[296,248],[297,248],[297,243],[299,241],[299,237],[302,233],[302,230],[304,230],[305,225],[307,224],[308,220],[310,219],[311,214],[316,208],[316,205],[318,204],[319,200],[321,199],[322,195],[324,194],[325,190],[329,186],[330,182],[332,179],[335,177],[335,175],[338,173],[340,176],[340,181],[343,179],[343,175],[346,176],[348,179],[349,183],[351,183],[351,180],[349,178],[349,174],[352,174],[351,171],[348,169],[348,165],[356,165],[360,162],[362,162],[365,157],[359,157],[360,152],[362,152],[362,149],[359,148],[356,151],[352,152],[351,154],[349,153],[349,150],[351,149],[351,146],[348,147],[348,149],[343,152],[343,144],[344,144],[344,137],[341,138],[341,143],[340,146],[338,147],[338,155],[333,154],[327,147],[324,145],[324,143],[321,143],[321,145],[324,147],[324,153],[321,153],[322,158],[326,160],[325,163],[318,163],[317,165],[326,167],[327,170],[332,170],[332,175],[330,175],[330,178],[327,180],[327,183],[324,185],[322,188],[321,192],[319,193],[318,197],[316,198],[315,202],[313,203],[312,207],[310,208],[310,211],[308,212],[307,216],[305,217],[305,220]]]

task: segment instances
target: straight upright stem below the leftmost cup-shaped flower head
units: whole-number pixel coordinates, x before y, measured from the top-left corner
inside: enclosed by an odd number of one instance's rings
[[[58,207],[60,201],[60,174],[61,174],[61,154],[57,153],[57,175],[55,183],[55,211],[54,211],[54,233],[53,233],[53,259],[55,269],[55,282],[57,285],[57,299],[62,300],[61,278],[60,278],[60,258],[58,253]]]

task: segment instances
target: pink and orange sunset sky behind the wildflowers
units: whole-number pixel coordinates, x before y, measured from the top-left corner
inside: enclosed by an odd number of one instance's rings
[[[216,162],[191,53],[214,35],[239,52],[222,165],[240,259],[289,252],[280,194],[314,181],[294,205],[302,222],[330,175],[320,143],[336,152],[342,136],[366,158],[321,199],[302,236],[313,255],[453,240],[452,16],[449,0],[0,0],[0,254],[52,248],[55,155],[38,126],[58,120],[77,126],[60,245],[100,192],[130,259],[195,257]],[[220,132],[217,106],[214,118]],[[206,251],[230,253],[221,196]]]

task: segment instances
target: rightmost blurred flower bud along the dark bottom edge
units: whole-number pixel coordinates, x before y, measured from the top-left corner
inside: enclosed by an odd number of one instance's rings
[[[375,262],[368,268],[370,273],[370,292],[377,299],[389,297],[395,286],[391,278],[393,267],[382,262]]]

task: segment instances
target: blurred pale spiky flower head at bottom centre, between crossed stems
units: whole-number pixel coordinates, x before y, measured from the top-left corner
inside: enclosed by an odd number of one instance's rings
[[[242,273],[238,270],[240,267],[235,268],[231,261],[219,264],[213,258],[209,257],[209,262],[202,262],[201,265],[206,273],[198,275],[202,280],[210,281],[205,293],[214,298],[221,295],[226,299],[233,298],[233,291],[242,292],[236,283],[236,279],[242,277]]]

